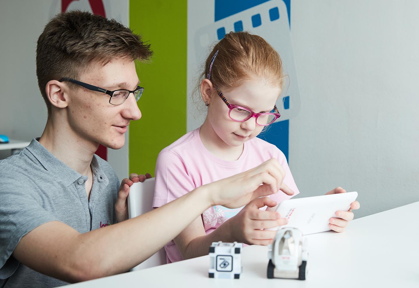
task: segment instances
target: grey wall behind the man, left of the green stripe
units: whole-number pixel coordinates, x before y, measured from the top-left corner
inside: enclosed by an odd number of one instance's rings
[[[128,25],[129,0],[103,1],[108,18]],[[90,10],[88,0],[68,9]],[[36,79],[36,41],[49,19],[61,10],[59,0],[0,2],[0,134],[31,141],[47,121],[47,108]],[[108,162],[122,179],[128,176],[128,134],[122,149],[108,149]],[[5,152],[0,152],[0,159]]]

